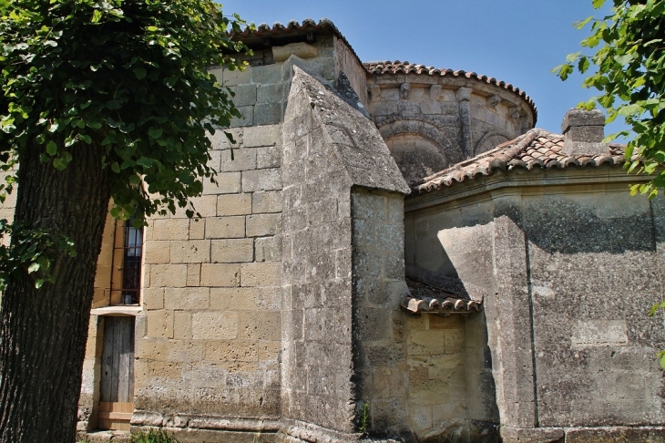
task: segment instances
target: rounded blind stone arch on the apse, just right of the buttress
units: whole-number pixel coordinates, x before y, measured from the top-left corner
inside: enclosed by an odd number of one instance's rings
[[[379,128],[404,179],[413,182],[463,159],[454,140],[434,125],[398,120]]]

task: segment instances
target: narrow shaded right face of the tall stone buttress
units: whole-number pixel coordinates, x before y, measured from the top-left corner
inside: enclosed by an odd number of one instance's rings
[[[404,283],[404,198],[354,188],[353,304],[357,398],[362,428],[408,429]],[[363,421],[363,418],[361,418]]]

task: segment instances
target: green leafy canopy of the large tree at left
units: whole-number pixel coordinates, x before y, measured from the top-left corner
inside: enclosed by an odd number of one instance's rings
[[[207,133],[240,117],[208,68],[243,68],[247,47],[229,36],[242,26],[210,0],[0,0],[0,202],[26,149],[57,170],[76,149],[102,149],[112,215],[193,216],[189,198],[216,173]],[[53,281],[54,249],[75,253],[44,227],[0,221],[6,234],[0,290],[24,273]]]

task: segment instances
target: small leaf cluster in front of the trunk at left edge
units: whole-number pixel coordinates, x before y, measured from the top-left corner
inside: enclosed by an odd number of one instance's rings
[[[64,235],[53,235],[47,229],[35,229],[25,222],[9,224],[0,220],[0,241],[5,235],[12,236],[12,245],[0,243],[0,291],[12,279],[28,275],[35,280],[36,288],[45,282],[53,283],[55,252],[64,252],[76,257],[74,243]]]

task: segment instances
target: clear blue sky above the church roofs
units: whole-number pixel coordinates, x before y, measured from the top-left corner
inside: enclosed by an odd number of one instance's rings
[[[538,108],[537,127],[560,132],[568,108],[593,95],[583,77],[562,82],[550,72],[590,30],[573,23],[594,10],[591,0],[221,0],[224,13],[259,25],[325,17],[363,62],[407,60],[475,71],[527,92]],[[606,130],[617,131],[613,124]]]

